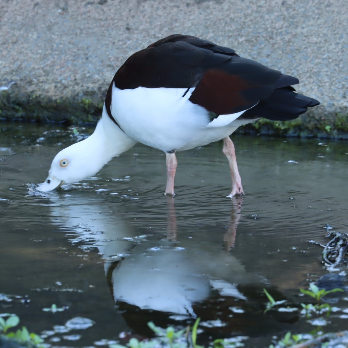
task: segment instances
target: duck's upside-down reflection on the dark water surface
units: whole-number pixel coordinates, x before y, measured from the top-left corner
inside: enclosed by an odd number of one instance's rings
[[[259,315],[252,320],[260,319],[257,317],[262,316],[264,302],[260,294],[267,281],[246,272],[230,252],[236,239],[242,198],[232,201],[226,232],[219,234],[220,242],[216,242],[216,236],[204,240],[214,226],[202,225],[198,240],[197,234],[195,238],[181,234],[173,197],[167,197],[166,209],[167,214],[159,217],[160,226],[166,224],[166,234],[142,235],[143,230],[139,231],[134,221],[124,221],[121,213],[119,216],[111,211],[107,204],[91,201],[81,205],[80,198],[74,204],[73,197],[69,197],[69,205],[66,202],[60,205],[59,201],[52,204],[56,222],[73,232],[72,243],[82,242],[82,248],[98,248],[112,297],[119,309],[124,310],[122,316],[130,327],[137,327],[139,332],[139,326],[147,321],[156,322],[153,311],[157,311],[157,317],[163,317],[161,312],[167,319],[189,320],[197,316],[220,319],[229,334],[233,331],[248,334],[245,331],[250,322],[245,318],[238,319],[233,329],[229,322],[236,321],[236,316],[245,316],[247,308],[255,305],[260,306]],[[224,331],[221,325],[220,332]],[[260,322],[258,327],[265,329]]]

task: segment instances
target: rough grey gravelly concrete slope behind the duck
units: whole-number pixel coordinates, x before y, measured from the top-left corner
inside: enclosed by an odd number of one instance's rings
[[[0,16],[7,98],[102,101],[130,54],[182,33],[298,77],[316,115],[348,113],[345,0],[1,0]]]

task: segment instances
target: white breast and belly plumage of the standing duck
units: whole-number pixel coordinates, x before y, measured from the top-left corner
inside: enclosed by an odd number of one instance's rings
[[[127,135],[163,151],[192,149],[233,133],[240,125],[233,121],[244,111],[210,122],[209,112],[188,100],[194,89],[185,94],[185,88],[113,86],[111,113]]]

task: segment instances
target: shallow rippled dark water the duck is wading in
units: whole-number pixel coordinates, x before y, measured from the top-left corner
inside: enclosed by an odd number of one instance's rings
[[[40,193],[52,158],[76,135],[49,125],[0,129],[0,313],[16,313],[36,333],[93,320],[46,339],[71,347],[195,317],[205,343],[246,335],[262,347],[272,335],[313,329],[296,311],[263,314],[262,289],[299,307],[309,302],[299,288],[326,273],[322,249],[308,242],[327,243],[325,223],[348,232],[346,142],[232,136],[246,192],[234,199],[225,197],[221,143],[181,152],[170,198],[165,155],[140,144],[92,179]],[[345,296],[335,304],[343,310]],[[42,310],[53,303],[68,308]],[[327,331],[346,329],[342,314]],[[75,333],[81,338],[64,339]]]

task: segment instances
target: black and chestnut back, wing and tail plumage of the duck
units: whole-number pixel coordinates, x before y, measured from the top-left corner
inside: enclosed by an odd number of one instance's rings
[[[130,56],[116,72],[105,104],[112,118],[112,84],[120,89],[195,87],[189,100],[216,115],[248,109],[240,118],[290,120],[319,104],[295,93],[291,85],[298,83],[294,77],[239,57],[231,48],[175,34]]]

